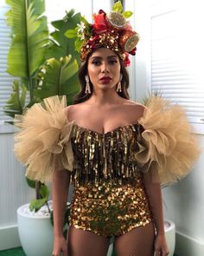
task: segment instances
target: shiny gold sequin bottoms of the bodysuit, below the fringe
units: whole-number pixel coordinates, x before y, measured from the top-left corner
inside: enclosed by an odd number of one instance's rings
[[[112,181],[74,189],[69,226],[105,237],[119,236],[152,221],[142,184]]]

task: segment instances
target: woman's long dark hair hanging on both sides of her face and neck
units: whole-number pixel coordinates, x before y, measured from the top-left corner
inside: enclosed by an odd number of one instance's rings
[[[80,79],[80,92],[73,97],[73,104],[77,104],[80,102],[86,102],[88,100],[91,94],[86,94],[85,89],[86,89],[86,80],[85,80],[85,75],[87,75],[87,65],[88,65],[88,59],[92,55],[92,53],[89,54],[86,58],[86,62],[81,64],[80,70],[79,70],[79,79]],[[120,67],[121,67],[121,73],[123,75],[122,81],[121,81],[121,92],[117,92],[119,96],[121,96],[124,99],[130,99],[129,93],[127,89],[129,88],[129,75],[127,70],[124,67],[124,62],[119,58],[120,62]],[[92,92],[92,82],[90,81],[90,89]]]

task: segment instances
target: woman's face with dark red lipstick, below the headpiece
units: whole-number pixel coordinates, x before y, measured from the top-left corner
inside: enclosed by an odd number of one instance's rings
[[[94,89],[112,89],[120,78],[120,62],[111,50],[99,48],[89,57],[88,76]]]

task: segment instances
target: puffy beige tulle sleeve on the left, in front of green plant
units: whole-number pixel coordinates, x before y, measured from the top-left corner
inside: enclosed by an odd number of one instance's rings
[[[73,170],[73,122],[67,121],[66,107],[66,96],[55,95],[15,116],[20,131],[15,134],[14,153],[27,166],[31,180],[51,181],[54,170]]]

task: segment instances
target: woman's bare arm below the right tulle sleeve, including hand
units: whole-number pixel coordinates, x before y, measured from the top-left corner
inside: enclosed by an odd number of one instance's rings
[[[150,210],[156,227],[155,255],[166,256],[169,254],[169,248],[165,239],[161,187],[159,183],[152,182],[150,172],[143,174],[143,184],[150,203]]]

